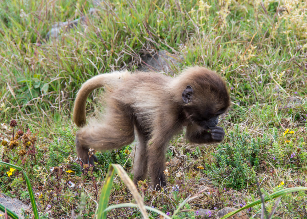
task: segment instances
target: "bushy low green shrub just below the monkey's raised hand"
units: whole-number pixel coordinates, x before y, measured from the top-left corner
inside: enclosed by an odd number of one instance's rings
[[[243,189],[255,182],[255,170],[260,168],[260,150],[270,143],[270,139],[265,135],[251,138],[248,133],[239,133],[239,126],[229,138],[229,143],[220,144],[216,153],[212,153],[214,162],[206,163],[204,172],[212,178],[222,176],[217,179],[222,186]]]

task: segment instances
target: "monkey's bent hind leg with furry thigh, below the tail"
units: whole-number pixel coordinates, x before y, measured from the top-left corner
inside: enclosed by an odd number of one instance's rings
[[[111,150],[121,148],[134,141],[134,123],[132,118],[116,107],[107,115],[102,124],[91,124],[76,133],[76,151],[83,163],[94,166],[95,156],[89,156],[89,148]]]

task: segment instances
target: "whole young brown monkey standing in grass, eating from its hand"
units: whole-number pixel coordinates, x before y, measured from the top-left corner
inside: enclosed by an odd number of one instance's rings
[[[192,87],[189,90],[187,86]],[[153,72],[117,71],[85,82],[76,97],[74,121],[86,123],[88,94],[106,87],[106,116],[102,123],[81,128],[76,134],[78,156],[94,165],[88,149],[111,150],[134,141],[134,127],[140,144],[134,160],[134,182],[144,179],[147,167],[153,185],[165,186],[165,152],[169,140],[187,126],[188,140],[218,142],[224,131],[216,126],[217,116],[230,105],[225,82],[203,67],[186,68],[175,78]],[[186,95],[186,102],[183,100]]]

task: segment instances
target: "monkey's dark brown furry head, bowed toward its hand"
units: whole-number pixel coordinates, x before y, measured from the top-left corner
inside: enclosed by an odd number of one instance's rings
[[[202,67],[188,68],[182,91],[183,112],[192,123],[211,129],[219,122],[219,115],[230,106],[230,97],[223,79]]]

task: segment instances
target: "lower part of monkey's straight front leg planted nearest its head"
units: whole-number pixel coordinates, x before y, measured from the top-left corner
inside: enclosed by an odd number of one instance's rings
[[[164,170],[167,142],[152,139],[148,143],[148,166],[150,168],[150,177],[155,190],[159,190],[161,187],[166,186]]]

